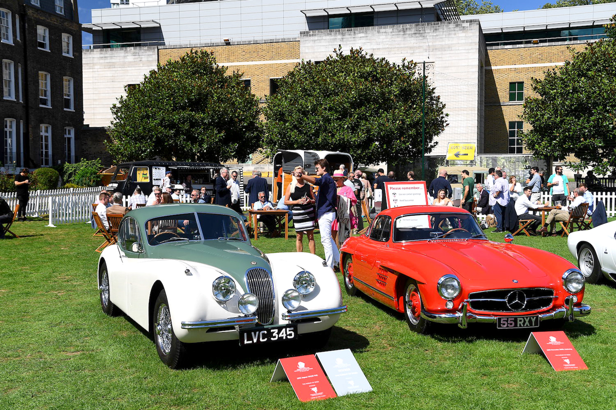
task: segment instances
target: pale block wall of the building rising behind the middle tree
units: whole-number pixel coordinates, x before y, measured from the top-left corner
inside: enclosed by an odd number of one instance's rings
[[[449,125],[438,137],[431,155],[444,155],[448,143],[483,143],[480,117],[484,106],[485,47],[477,21],[436,22],[384,27],[304,31],[300,35],[300,56],[320,61],[331,50],[362,47],[376,57],[393,63],[403,58],[419,63],[429,61],[431,86],[445,103]]]

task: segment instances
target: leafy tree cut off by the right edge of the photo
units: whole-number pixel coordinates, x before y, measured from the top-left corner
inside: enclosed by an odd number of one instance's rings
[[[616,166],[616,42],[614,18],[607,39],[571,49],[571,60],[532,79],[538,97],[524,101],[522,119],[532,129],[522,133],[534,156],[564,160],[573,154],[575,168],[593,166],[606,173]]]

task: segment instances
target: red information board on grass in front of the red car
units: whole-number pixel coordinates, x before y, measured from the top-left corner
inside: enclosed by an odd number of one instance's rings
[[[564,331],[531,333],[522,354],[540,352],[556,371],[588,369]]]

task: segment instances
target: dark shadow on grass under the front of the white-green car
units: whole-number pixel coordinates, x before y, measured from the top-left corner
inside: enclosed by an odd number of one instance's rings
[[[238,345],[237,341],[196,343],[190,345],[193,366],[209,369],[241,369],[248,365],[274,366],[278,359],[314,355],[328,350],[351,349],[362,352],[370,342],[359,334],[334,326],[329,341],[323,347],[300,340],[256,346]],[[189,369],[190,369],[189,368]],[[272,371],[274,368],[272,367]]]

